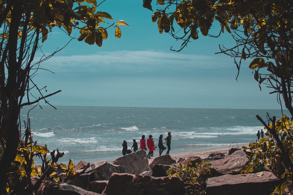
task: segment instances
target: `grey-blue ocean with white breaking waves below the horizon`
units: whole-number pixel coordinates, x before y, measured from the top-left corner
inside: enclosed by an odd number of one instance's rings
[[[21,121],[27,120],[31,108],[22,108]],[[147,139],[151,134],[157,146],[159,135],[166,137],[168,132],[172,136],[171,156],[172,153],[184,151],[235,147],[257,139],[256,133],[263,129],[263,125],[256,115],[260,115],[264,121],[267,112],[270,116],[282,116],[281,110],[253,109],[56,108],[37,106],[30,110],[30,127],[33,141],[37,141],[38,145],[47,144],[50,151],[58,149],[64,152],[58,162],[65,164],[69,159],[75,164],[81,160],[90,163],[100,160],[111,162],[123,156],[123,140],[127,141],[130,149],[133,139],[137,140],[139,146],[141,136],[145,135]],[[284,114],[290,116],[288,112]],[[21,127],[24,128],[24,125]],[[159,148],[154,151],[156,156],[159,156]],[[35,163],[41,163],[38,157]]]

